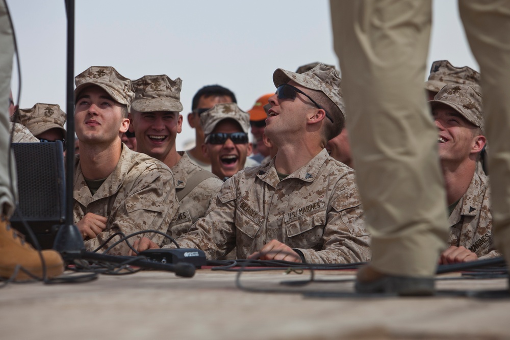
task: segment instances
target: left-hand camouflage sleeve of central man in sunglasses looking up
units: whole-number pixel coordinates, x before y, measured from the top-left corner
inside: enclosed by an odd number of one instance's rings
[[[198,248],[208,259],[217,259],[231,251],[236,245],[237,190],[234,177],[228,179],[220,189],[205,217],[198,219],[190,231],[175,241],[181,248]],[[174,248],[166,245],[164,248]]]

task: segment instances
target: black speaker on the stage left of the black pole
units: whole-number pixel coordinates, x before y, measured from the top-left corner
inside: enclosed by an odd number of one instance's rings
[[[42,249],[53,247],[56,233],[65,222],[65,170],[61,141],[12,143],[19,203],[11,225],[27,236],[22,219]],[[32,240],[27,237],[27,241]]]

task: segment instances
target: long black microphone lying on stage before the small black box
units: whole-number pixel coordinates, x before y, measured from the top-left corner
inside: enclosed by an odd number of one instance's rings
[[[193,277],[195,275],[195,266],[189,263],[180,262],[175,265],[163,264],[155,261],[149,261],[142,257],[134,256],[116,256],[116,255],[105,255],[93,253],[90,251],[82,251],[79,254],[73,252],[66,254],[65,251],[62,254],[66,259],[88,259],[94,261],[105,261],[111,263],[123,264],[129,261],[131,266],[136,266],[146,269],[157,269],[166,270],[175,273],[176,276],[181,277]]]

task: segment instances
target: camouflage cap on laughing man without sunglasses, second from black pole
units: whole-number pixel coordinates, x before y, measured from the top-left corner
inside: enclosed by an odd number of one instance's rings
[[[171,80],[168,75],[144,75],[132,82],[135,99],[131,107],[138,112],[181,112],[181,78]]]

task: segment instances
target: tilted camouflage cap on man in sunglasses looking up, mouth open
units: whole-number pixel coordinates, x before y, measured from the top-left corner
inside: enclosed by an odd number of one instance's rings
[[[278,87],[293,81],[307,89],[318,90],[324,93],[340,109],[345,118],[345,103],[340,89],[341,79],[334,68],[327,67],[324,64],[315,66],[310,71],[302,74],[276,69],[273,73],[274,86]]]

